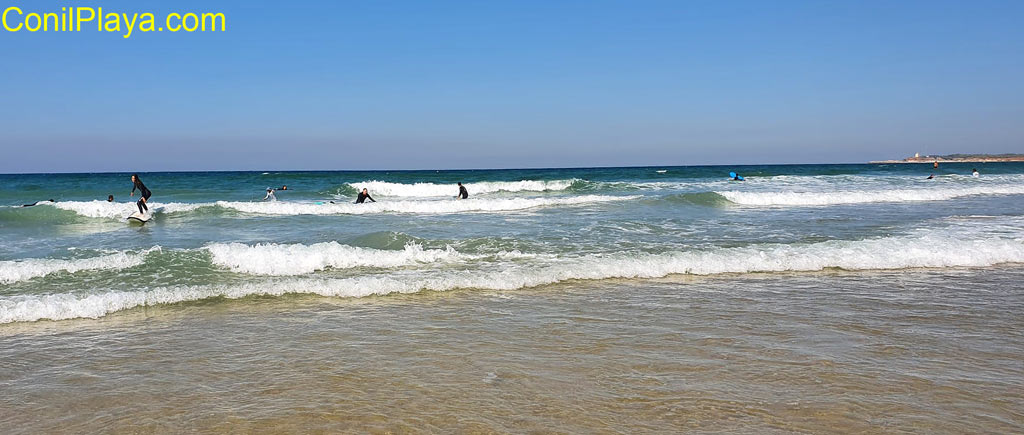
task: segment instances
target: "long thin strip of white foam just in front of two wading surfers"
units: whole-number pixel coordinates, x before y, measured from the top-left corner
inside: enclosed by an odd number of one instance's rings
[[[538,207],[578,206],[586,204],[608,203],[614,201],[630,201],[640,197],[613,197],[600,194],[585,194],[562,198],[510,198],[510,199],[473,199],[440,201],[379,201],[377,203],[245,203],[219,201],[220,207],[246,213],[267,215],[361,215],[377,213],[418,213],[443,214],[464,212],[502,212],[526,210]]]

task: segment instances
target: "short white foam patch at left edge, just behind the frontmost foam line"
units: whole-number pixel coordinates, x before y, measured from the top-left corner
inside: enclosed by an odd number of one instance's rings
[[[29,258],[0,261],[0,284],[12,284],[55,272],[75,273],[81,270],[120,270],[142,264],[144,252],[119,252],[92,258],[50,259]]]

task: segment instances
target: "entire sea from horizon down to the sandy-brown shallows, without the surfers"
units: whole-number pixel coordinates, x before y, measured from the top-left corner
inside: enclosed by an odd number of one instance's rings
[[[0,175],[0,432],[1024,432],[1021,163],[130,175]]]

